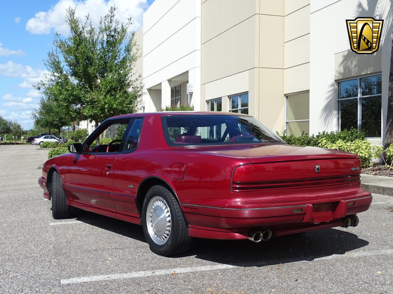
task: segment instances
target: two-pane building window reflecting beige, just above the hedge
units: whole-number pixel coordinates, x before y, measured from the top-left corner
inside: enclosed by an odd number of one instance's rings
[[[286,132],[295,136],[310,133],[310,92],[286,96]]]

